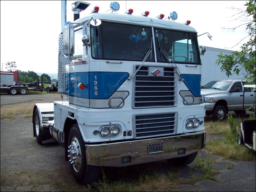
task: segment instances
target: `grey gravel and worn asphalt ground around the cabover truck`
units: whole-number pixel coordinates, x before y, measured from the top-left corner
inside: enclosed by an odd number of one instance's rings
[[[61,100],[59,94],[15,95],[1,94],[1,109],[8,104]],[[2,116],[2,114],[1,114]],[[1,191],[85,191],[73,178],[69,164],[64,160],[64,148],[57,143],[39,145],[33,137],[32,118],[1,119]],[[207,137],[212,139],[218,135]],[[215,159],[213,167],[220,174],[217,182],[204,180],[194,185],[181,185],[177,191],[255,191],[255,160],[233,162],[208,154],[201,150],[202,158]],[[113,173],[123,171],[136,174],[138,169],[167,172],[167,161],[159,161],[155,166],[143,164],[123,168],[104,168],[110,181]],[[150,168],[149,168],[150,167]],[[231,167],[231,168],[227,168]],[[187,180],[203,173],[193,168],[193,163],[178,169],[179,178]]]

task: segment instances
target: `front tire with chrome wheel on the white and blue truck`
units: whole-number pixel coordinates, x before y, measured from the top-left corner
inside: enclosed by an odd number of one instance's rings
[[[82,185],[94,182],[99,175],[100,167],[87,165],[84,140],[78,124],[73,124],[68,136],[68,159],[72,174]]]

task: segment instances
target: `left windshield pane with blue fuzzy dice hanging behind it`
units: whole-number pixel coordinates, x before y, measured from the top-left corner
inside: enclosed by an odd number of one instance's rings
[[[142,61],[153,48],[150,27],[102,22],[90,32],[94,59]],[[154,50],[146,61],[154,61]]]

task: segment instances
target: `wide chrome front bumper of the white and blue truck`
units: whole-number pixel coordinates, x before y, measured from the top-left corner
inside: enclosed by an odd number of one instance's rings
[[[148,153],[148,144],[163,143],[163,151]],[[205,147],[205,131],[179,136],[119,142],[111,144],[85,145],[88,165],[122,167],[187,156]],[[185,153],[178,155],[178,150]],[[121,162],[130,158],[130,163]]]

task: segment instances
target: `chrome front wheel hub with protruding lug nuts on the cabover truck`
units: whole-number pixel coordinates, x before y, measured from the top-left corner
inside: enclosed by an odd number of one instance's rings
[[[73,137],[71,140],[70,145],[68,146],[68,157],[69,162],[71,165],[73,165],[74,169],[78,172],[81,169],[82,165],[82,156],[81,156],[81,149],[80,144],[78,142],[78,139],[76,137]]]

